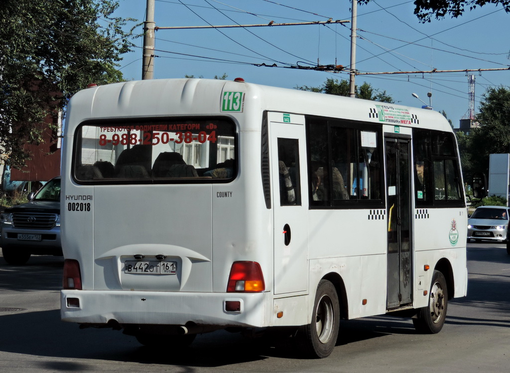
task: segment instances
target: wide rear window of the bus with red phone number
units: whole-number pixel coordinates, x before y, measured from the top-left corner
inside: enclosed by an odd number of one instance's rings
[[[227,119],[91,121],[77,129],[79,182],[226,182],[236,175],[235,125]]]

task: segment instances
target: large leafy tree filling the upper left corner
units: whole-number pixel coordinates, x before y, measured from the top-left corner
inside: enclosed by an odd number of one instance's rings
[[[110,0],[3,0],[0,12],[0,147],[11,166],[30,159],[48,113],[89,83],[119,79],[133,44]],[[121,75],[120,75],[121,77]]]

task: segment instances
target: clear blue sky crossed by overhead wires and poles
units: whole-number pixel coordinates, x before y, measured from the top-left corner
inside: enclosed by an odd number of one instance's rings
[[[115,15],[145,19],[146,0],[120,0]],[[269,21],[305,22],[350,20],[348,0],[156,0],[157,27],[251,25]],[[384,7],[384,9],[382,8]],[[455,69],[492,69],[510,66],[510,14],[486,5],[452,19],[432,19],[420,24],[413,1],[375,0],[358,7],[356,69],[360,72],[409,72]],[[138,27],[135,33],[142,33]],[[319,86],[327,78],[349,79],[291,65],[350,63],[350,24],[261,27],[248,29],[159,30],[156,32],[154,77],[183,78],[185,75],[246,81],[294,88]],[[124,56],[120,71],[128,80],[141,79],[142,38],[135,51]],[[253,64],[279,67],[256,67]],[[489,86],[510,86],[510,71],[474,72],[475,111]],[[468,76],[461,73],[359,75],[356,84],[370,83],[386,90],[407,106],[422,105],[412,97],[445,111],[454,127],[468,114]]]

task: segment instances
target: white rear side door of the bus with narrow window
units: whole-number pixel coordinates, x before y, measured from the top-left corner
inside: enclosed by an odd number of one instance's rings
[[[270,122],[274,293],[308,289],[304,125]]]

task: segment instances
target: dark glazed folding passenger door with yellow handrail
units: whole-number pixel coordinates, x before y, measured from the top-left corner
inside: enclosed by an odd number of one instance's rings
[[[389,310],[412,302],[410,143],[386,138]]]

